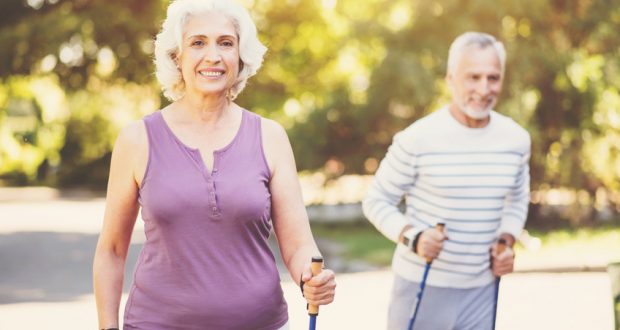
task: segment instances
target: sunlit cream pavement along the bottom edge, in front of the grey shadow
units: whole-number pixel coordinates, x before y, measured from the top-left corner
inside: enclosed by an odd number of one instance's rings
[[[332,305],[321,308],[319,329],[384,329],[391,281],[387,270],[340,274],[338,296]],[[283,287],[291,329],[307,329],[299,289],[290,281]],[[605,273],[511,275],[502,281],[500,299],[499,330],[613,329]],[[0,329],[94,329],[96,320],[92,295],[69,301],[0,304]]]

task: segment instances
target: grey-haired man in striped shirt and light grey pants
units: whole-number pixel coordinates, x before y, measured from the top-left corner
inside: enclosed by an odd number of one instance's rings
[[[493,111],[505,60],[494,37],[459,36],[448,55],[451,103],[396,134],[364,199],[366,217],[397,243],[388,329],[407,329],[427,259],[414,329],[493,327],[494,278],[513,270],[529,203],[529,134]]]

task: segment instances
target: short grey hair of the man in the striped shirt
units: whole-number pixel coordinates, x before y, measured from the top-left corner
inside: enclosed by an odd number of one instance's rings
[[[504,44],[495,39],[492,35],[482,32],[465,32],[454,39],[452,45],[450,45],[450,51],[448,52],[448,72],[454,72],[465,50],[472,46],[478,47],[479,49],[492,47],[499,58],[503,76],[504,67],[506,66],[506,49],[504,48]]]

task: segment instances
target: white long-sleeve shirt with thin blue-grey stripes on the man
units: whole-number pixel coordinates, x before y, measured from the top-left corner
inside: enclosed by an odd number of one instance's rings
[[[449,237],[427,284],[470,288],[493,280],[489,248],[501,233],[519,237],[529,204],[530,136],[494,111],[484,128],[461,125],[444,107],[395,135],[363,201],[366,217],[398,243],[446,224]],[[404,199],[405,212],[398,205]],[[415,233],[414,233],[415,234]],[[397,244],[392,269],[420,281],[425,261]]]

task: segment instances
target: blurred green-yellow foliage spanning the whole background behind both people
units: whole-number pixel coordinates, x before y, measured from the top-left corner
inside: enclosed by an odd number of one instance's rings
[[[532,188],[620,190],[620,0],[245,3],[269,51],[239,103],[285,126],[301,170],[374,172],[394,133],[449,100],[448,47],[479,30],[506,44],[498,111],[532,135]],[[151,56],[167,4],[0,3],[0,176],[66,182],[165,103]]]

